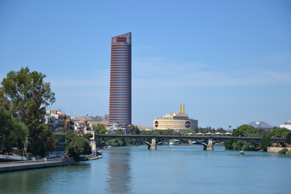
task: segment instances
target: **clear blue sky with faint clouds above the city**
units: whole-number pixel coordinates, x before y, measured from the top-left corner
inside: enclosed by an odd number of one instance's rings
[[[291,1],[0,1],[0,80],[46,74],[52,109],[109,113],[111,37],[132,32],[132,123],[291,120]]]

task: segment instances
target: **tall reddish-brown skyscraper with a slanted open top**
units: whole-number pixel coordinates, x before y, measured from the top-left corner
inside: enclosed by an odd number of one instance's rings
[[[131,123],[131,32],[111,38],[109,122]]]

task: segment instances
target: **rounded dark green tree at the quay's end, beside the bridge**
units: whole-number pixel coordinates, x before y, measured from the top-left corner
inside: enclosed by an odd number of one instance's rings
[[[66,131],[65,148],[68,154],[79,161],[80,155],[89,155],[92,153],[92,147],[88,141],[81,136],[74,134],[71,130]]]

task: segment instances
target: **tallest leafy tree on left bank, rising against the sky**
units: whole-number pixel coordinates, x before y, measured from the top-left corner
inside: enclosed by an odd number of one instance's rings
[[[10,100],[9,113],[14,118],[19,116],[21,122],[28,127],[28,152],[42,156],[46,151],[44,142],[47,137],[41,135],[45,129],[42,125],[45,111],[41,106],[48,106],[55,102],[55,94],[50,90],[50,83],[43,81],[45,77],[45,74],[29,72],[28,67],[22,67],[18,72],[8,72],[7,77],[1,82],[3,86],[1,92]],[[24,141],[25,136],[22,137],[22,145]]]

